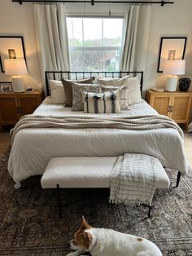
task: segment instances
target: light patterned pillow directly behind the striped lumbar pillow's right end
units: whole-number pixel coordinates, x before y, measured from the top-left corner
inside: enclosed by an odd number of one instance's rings
[[[127,110],[129,109],[129,105],[132,104],[128,86],[100,86],[101,92],[106,92],[106,91],[112,91],[112,90],[119,90],[120,94],[120,109],[122,110]]]

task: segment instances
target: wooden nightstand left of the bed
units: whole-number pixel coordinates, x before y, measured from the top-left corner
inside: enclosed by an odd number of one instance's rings
[[[2,126],[15,125],[20,117],[31,114],[41,104],[42,92],[0,92],[0,130]]]

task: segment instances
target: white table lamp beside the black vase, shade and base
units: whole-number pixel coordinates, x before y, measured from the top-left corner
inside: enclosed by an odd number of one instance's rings
[[[176,91],[178,82],[176,75],[185,74],[185,60],[165,60],[163,73],[169,75],[165,83],[165,90]]]

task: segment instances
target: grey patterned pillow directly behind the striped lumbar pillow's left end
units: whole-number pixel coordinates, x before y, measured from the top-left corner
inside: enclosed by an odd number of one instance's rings
[[[99,86],[94,84],[72,83],[72,110],[82,111],[84,109],[82,100],[82,91],[88,90],[99,93]]]

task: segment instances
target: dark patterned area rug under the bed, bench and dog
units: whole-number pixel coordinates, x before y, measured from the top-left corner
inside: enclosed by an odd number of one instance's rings
[[[0,157],[0,254],[66,255],[68,241],[80,227],[81,215],[93,227],[107,227],[154,241],[164,255],[192,255],[192,171],[174,188],[176,172],[168,171],[171,188],[155,193],[151,218],[143,206],[108,204],[109,190],[66,189],[59,219],[55,189],[41,189],[40,177],[15,190],[7,173],[9,151]],[[88,196],[89,195],[89,196]]]

